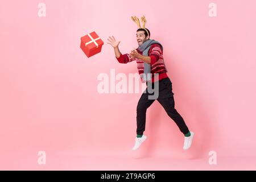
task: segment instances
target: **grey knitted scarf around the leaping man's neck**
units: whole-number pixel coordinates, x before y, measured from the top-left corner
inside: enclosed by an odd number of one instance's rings
[[[152,44],[159,44],[163,50],[163,46],[159,42],[152,40],[152,39],[148,39],[146,42],[144,42],[141,46],[138,47],[139,51],[143,52],[142,53],[143,56],[148,56],[148,51]],[[144,62],[144,73],[141,76],[141,77],[143,77],[144,81],[151,80],[151,77],[148,75],[148,73],[151,73],[151,65]]]

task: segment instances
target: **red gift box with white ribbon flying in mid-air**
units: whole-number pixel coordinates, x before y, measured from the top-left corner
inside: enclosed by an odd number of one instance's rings
[[[92,32],[81,38],[80,48],[82,51],[84,51],[87,57],[90,57],[96,55],[96,53],[101,52],[101,47],[103,44],[104,42],[96,34],[96,32]]]

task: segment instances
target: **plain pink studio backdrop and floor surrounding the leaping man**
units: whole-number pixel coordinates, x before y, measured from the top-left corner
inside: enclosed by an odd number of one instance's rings
[[[0,169],[256,169],[254,0],[44,0],[46,17],[40,2],[1,0]],[[188,151],[157,101],[147,110],[148,139],[131,151],[141,94],[97,92],[100,73],[137,73],[106,44],[114,35],[122,53],[138,46],[132,15],[145,15],[163,44],[176,109],[195,132]],[[92,31],[105,44],[88,59],[80,38]]]

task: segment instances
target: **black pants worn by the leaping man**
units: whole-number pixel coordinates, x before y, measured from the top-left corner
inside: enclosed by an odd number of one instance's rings
[[[167,114],[170,118],[174,120],[176,125],[179,127],[180,131],[183,134],[188,133],[188,127],[184,122],[184,119],[181,117],[181,115],[177,112],[177,110],[174,108],[174,93],[172,92],[172,82],[170,78],[164,78],[159,83],[159,95],[158,95],[158,102],[164,107],[164,110],[166,110]],[[152,83],[152,86],[150,88],[154,89],[154,82]],[[148,99],[149,95],[153,95],[151,91],[148,92],[148,82],[147,82],[147,89],[145,90],[146,93],[143,93],[141,98],[139,99],[138,105],[137,105],[137,134],[142,135],[145,131],[146,126],[146,111],[147,108],[150,107],[150,105],[155,100]]]

